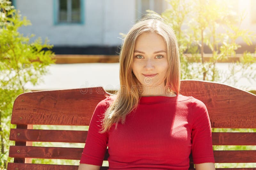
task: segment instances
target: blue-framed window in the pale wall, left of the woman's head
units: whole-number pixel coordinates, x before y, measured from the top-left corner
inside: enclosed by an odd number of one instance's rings
[[[84,0],[55,0],[55,24],[83,23]]]

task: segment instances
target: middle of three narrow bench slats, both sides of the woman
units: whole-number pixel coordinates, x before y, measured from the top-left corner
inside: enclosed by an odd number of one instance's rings
[[[19,152],[17,152],[19,150]],[[10,146],[10,157],[74,159],[80,160],[83,148]],[[256,162],[256,150],[249,151],[213,151],[216,163],[253,163]],[[108,149],[104,160],[108,160]],[[191,159],[191,157],[190,157]]]

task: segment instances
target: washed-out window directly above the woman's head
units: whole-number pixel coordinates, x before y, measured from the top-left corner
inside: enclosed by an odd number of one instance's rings
[[[155,11],[158,14],[164,12],[167,7],[165,0],[137,0],[136,18],[140,19],[146,14],[146,10]]]

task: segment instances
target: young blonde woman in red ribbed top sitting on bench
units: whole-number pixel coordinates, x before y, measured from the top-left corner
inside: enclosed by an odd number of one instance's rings
[[[215,170],[211,124],[203,102],[180,91],[180,59],[172,28],[147,15],[126,35],[120,89],[95,108],[79,170]]]

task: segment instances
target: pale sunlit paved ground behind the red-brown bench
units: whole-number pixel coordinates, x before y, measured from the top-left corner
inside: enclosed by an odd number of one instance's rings
[[[79,89],[96,86],[102,86],[105,90],[115,90],[119,87],[119,63],[53,64],[48,68],[49,73],[43,76],[43,83],[36,86],[27,84],[25,87],[30,90]],[[228,63],[218,63],[217,68],[224,73],[229,72]],[[256,64],[253,68],[255,75]],[[239,78],[236,85],[231,82],[225,84],[256,90],[256,80],[250,82],[245,78]]]

